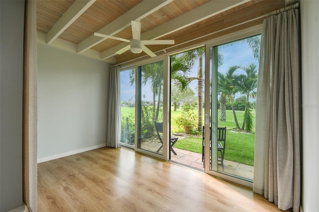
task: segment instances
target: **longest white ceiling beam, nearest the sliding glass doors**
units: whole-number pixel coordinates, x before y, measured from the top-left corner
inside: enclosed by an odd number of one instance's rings
[[[141,40],[154,40],[160,38],[247,1],[248,0],[211,0],[199,7],[196,7],[195,9],[184,13],[183,15],[171,19],[164,24],[161,24],[160,26],[143,33],[141,35]],[[102,52],[101,59],[106,59],[114,56],[115,52],[119,51],[125,46],[127,46],[127,43],[121,43]]]

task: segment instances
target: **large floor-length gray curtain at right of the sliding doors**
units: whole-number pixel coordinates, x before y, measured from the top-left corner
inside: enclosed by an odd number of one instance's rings
[[[254,192],[300,210],[301,63],[299,9],[264,20],[256,101]],[[285,11],[286,10],[286,11]]]

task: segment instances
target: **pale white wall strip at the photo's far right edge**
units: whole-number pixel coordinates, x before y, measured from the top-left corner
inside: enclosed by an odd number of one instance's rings
[[[319,1],[301,0],[303,209],[319,211]]]

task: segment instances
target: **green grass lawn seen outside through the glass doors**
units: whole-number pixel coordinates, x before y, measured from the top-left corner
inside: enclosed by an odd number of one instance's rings
[[[129,113],[134,114],[134,107],[122,107],[122,115],[127,115]],[[194,109],[194,112],[197,112]],[[181,109],[173,111],[171,108],[171,133],[182,132],[181,128],[175,123],[175,118],[178,117],[181,113]],[[204,113],[203,113],[204,114]],[[253,111],[255,119],[255,112]],[[236,111],[237,119],[239,125],[243,121],[244,111]],[[159,115],[161,117],[161,114]],[[226,120],[218,120],[218,126],[226,126],[226,148],[225,148],[225,160],[234,161],[246,165],[254,165],[254,145],[255,145],[255,132],[251,134],[241,133],[241,132],[232,132],[231,129],[235,128],[234,117],[231,110],[226,111]],[[179,149],[184,149],[192,152],[201,153],[202,151],[202,137],[199,136],[187,136],[183,139],[179,139],[174,147]]]

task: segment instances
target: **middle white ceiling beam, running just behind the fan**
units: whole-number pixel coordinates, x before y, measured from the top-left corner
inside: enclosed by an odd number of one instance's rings
[[[111,36],[115,35],[130,26],[132,20],[140,21],[142,18],[159,10],[161,7],[167,5],[171,1],[172,0],[144,0],[97,32]],[[82,53],[106,39],[107,38],[91,35],[78,44],[78,53]]]

